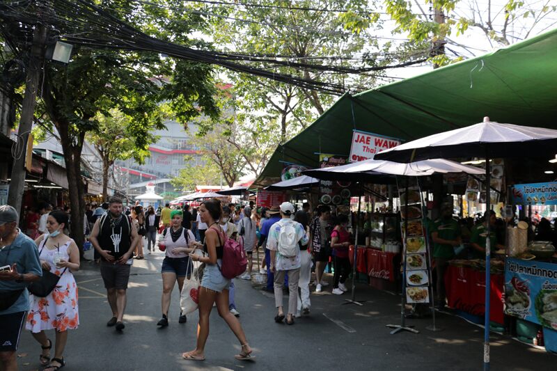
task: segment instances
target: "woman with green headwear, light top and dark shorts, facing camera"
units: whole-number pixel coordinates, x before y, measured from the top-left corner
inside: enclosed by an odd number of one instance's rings
[[[168,326],[168,310],[170,308],[174,284],[178,281],[178,290],[182,292],[182,287],[184,286],[184,280],[187,274],[191,274],[191,271],[193,271],[191,259],[188,254],[191,253],[191,251],[194,251],[194,248],[191,247],[191,245],[194,243],[195,237],[193,233],[191,233],[191,230],[182,227],[181,210],[173,210],[173,212],[171,212],[171,223],[172,226],[163,231],[165,257],[162,261],[161,268],[162,318],[157,323],[157,326],[161,327]],[[178,323],[185,324],[186,322],[186,315],[183,315],[182,311],[180,311]]]

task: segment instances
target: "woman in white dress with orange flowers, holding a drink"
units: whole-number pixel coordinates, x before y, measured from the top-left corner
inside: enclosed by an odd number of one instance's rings
[[[36,239],[43,270],[60,276],[58,285],[44,298],[29,295],[31,309],[27,315],[26,329],[30,330],[42,348],[40,364],[45,371],[56,371],[65,365],[63,352],[68,341],[68,329],[77,329],[79,314],[77,307],[77,285],[72,271],[79,270],[79,250],[74,240],[64,234],[68,225],[68,214],[51,212],[47,219],[47,235]],[[52,341],[45,330],[56,331],[54,358],[50,358]]]

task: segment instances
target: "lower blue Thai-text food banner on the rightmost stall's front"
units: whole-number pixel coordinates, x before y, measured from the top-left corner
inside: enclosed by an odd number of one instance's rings
[[[505,313],[557,329],[557,265],[508,258]]]

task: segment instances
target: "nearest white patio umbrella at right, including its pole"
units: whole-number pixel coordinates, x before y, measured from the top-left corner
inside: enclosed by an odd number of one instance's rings
[[[379,152],[375,159],[411,162],[423,159],[448,157],[484,157],[485,189],[490,189],[490,159],[495,157],[524,157],[527,153],[554,155],[557,148],[557,130],[544,127],[528,127],[495,123],[484,118],[483,123],[462,127],[426,136],[416,141],[398,145]],[[491,197],[486,195],[486,209],[491,210]],[[487,223],[487,236],[490,226]],[[491,282],[491,246],[489,238],[485,246],[485,282]],[[485,285],[485,330],[484,330],[484,370],[489,370],[489,291]]]

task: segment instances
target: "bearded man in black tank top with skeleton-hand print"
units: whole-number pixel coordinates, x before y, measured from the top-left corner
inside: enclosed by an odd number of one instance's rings
[[[134,223],[129,216],[122,214],[122,210],[122,200],[112,197],[109,200],[109,212],[95,221],[89,237],[101,256],[100,274],[112,310],[107,326],[116,326],[116,331],[125,328],[123,317],[130,267],[133,264],[132,251],[141,239]]]

